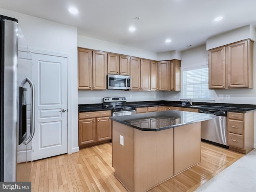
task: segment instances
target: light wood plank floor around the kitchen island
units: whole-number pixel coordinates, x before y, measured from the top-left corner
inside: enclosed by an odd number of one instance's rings
[[[126,192],[113,176],[111,143],[32,162],[33,192]],[[244,156],[201,142],[201,163],[149,190],[192,192]]]

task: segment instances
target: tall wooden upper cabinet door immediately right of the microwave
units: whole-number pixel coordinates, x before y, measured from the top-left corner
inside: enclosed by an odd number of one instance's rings
[[[130,72],[131,72],[131,90],[140,90],[140,59],[130,59]]]

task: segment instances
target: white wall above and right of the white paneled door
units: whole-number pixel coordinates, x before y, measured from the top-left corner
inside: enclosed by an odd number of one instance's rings
[[[0,8],[0,14],[16,18],[30,49],[69,56],[72,151],[78,151],[77,28]]]

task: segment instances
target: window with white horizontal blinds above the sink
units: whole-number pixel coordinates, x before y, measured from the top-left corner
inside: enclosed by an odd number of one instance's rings
[[[183,69],[183,98],[213,100],[214,92],[208,89],[208,63]]]

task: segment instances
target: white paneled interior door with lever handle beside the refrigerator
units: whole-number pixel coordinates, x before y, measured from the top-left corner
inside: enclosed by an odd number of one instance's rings
[[[32,160],[68,152],[67,58],[33,54],[36,87]]]

